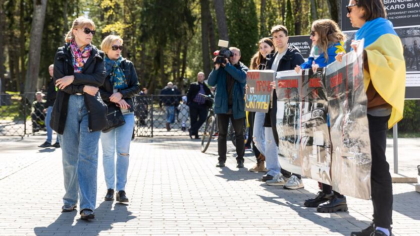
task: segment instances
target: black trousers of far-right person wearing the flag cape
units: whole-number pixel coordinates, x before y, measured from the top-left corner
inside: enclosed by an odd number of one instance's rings
[[[371,189],[374,205],[375,226],[389,228],[392,224],[392,181],[389,164],[385,157],[387,144],[388,116],[367,114],[369,137],[371,139]]]

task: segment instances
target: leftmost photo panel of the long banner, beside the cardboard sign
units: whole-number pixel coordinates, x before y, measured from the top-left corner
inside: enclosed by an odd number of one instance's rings
[[[302,74],[295,71],[276,75],[279,160],[283,169],[302,174],[300,155],[300,92]]]

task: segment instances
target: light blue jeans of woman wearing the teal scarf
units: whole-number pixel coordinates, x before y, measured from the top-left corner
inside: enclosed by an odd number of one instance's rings
[[[103,172],[107,189],[115,189],[115,172],[117,172],[117,192],[125,190],[127,183],[128,160],[130,155],[131,135],[134,129],[134,113],[124,115],[125,125],[108,133],[100,134],[102,144]],[[115,167],[115,149],[117,149],[117,168]],[[125,155],[122,155],[125,154]]]

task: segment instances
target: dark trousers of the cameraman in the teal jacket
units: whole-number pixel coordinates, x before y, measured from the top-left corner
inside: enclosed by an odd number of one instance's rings
[[[243,128],[245,117],[240,119],[233,119],[233,114],[217,114],[217,122],[219,126],[219,137],[217,140],[218,143],[218,152],[219,152],[219,162],[226,162],[226,136],[228,134],[229,120],[232,121],[233,130],[235,131],[236,139],[236,160],[242,160],[245,152],[245,144],[243,137]]]

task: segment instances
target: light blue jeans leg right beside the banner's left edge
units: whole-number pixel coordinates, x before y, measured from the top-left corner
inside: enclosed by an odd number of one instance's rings
[[[269,170],[267,174],[276,176],[280,173],[281,167],[279,162],[279,148],[274,140],[273,129],[264,127],[266,134],[266,165]]]

